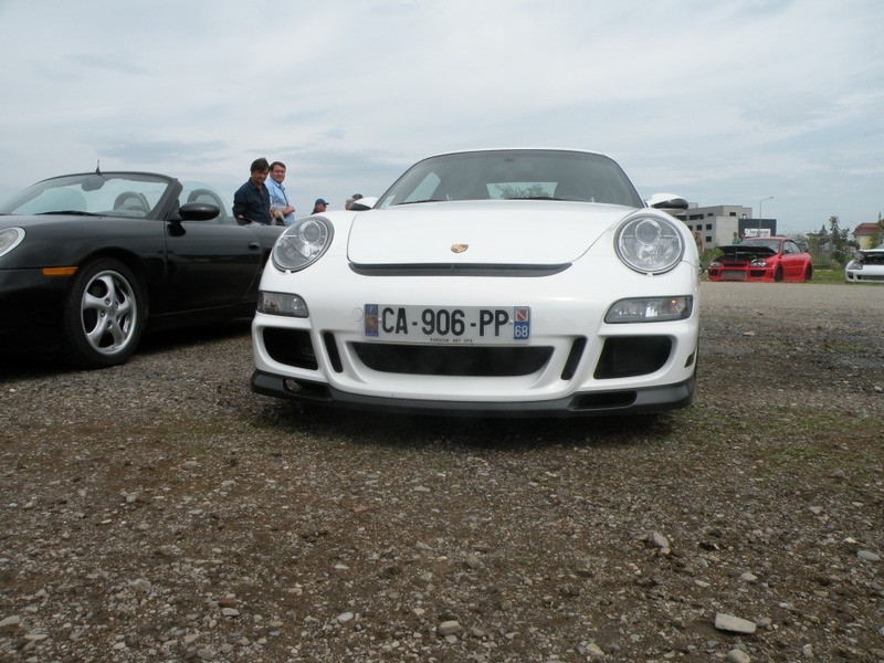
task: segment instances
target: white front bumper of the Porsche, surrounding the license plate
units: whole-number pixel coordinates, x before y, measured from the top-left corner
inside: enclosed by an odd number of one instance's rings
[[[305,402],[411,412],[529,417],[657,411],[688,404],[698,338],[698,281],[684,264],[665,277],[610,264],[544,277],[367,277],[349,269],[265,271],[262,290],[296,293],[309,317],[259,312],[252,322],[255,392]],[[330,286],[329,284],[334,284]],[[378,294],[381,292],[383,294]],[[684,319],[606,323],[613,302],[691,295]],[[364,304],[527,306],[530,340],[499,346],[377,343]]]

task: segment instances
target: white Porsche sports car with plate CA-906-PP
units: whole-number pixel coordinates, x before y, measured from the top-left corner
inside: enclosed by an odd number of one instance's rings
[[[280,236],[252,324],[252,389],[436,414],[687,406],[699,260],[662,211],[686,201],[651,201],[594,152],[419,161],[377,201]]]

